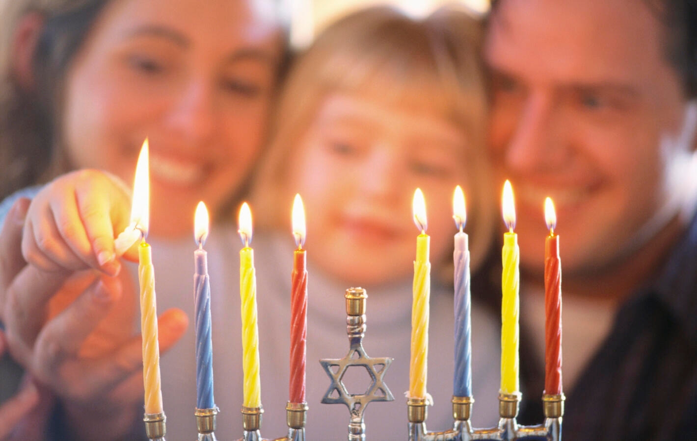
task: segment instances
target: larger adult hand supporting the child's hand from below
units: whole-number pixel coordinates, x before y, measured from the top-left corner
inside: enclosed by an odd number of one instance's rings
[[[103,421],[89,426],[86,409],[109,415],[118,426],[111,433],[123,433],[136,417],[132,403],[143,399],[141,337],[132,336],[137,291],[126,271],[112,278],[95,270],[26,264],[20,243],[27,205],[18,201],[0,232],[0,311],[10,352],[63,401],[83,438],[93,438],[91,429],[109,433]],[[162,351],[186,327],[181,310],[164,312]]]

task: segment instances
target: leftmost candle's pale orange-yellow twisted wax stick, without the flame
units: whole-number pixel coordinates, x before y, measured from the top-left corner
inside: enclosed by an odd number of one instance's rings
[[[155,302],[155,273],[151,248],[145,241],[138,247],[138,257],[145,412],[160,413],[162,412],[162,389],[160,388],[160,345],[158,344],[158,314]]]

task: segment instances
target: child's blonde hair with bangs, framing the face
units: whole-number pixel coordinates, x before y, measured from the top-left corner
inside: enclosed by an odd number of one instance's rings
[[[254,186],[257,218],[268,221],[266,227],[285,225],[293,193],[287,164],[328,94],[358,93],[404,108],[428,106],[442,111],[468,137],[462,160],[469,161],[469,175],[462,179],[468,179],[471,193],[467,230],[476,236],[472,260],[479,262],[492,233],[481,40],[482,24],[454,7],[422,20],[389,7],[367,8],[329,26],[286,77],[270,148]]]

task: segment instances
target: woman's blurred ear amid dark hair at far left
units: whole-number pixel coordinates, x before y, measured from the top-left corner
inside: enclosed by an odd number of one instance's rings
[[[33,59],[39,35],[43,30],[44,17],[40,13],[28,13],[20,19],[13,34],[10,63],[15,81],[24,90],[35,86],[36,75]]]

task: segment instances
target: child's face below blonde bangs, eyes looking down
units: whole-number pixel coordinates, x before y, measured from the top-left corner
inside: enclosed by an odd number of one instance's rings
[[[305,202],[307,252],[353,285],[413,271],[412,198],[424,192],[431,262],[452,247],[452,192],[466,179],[466,139],[440,113],[328,95],[300,140],[291,188]]]

